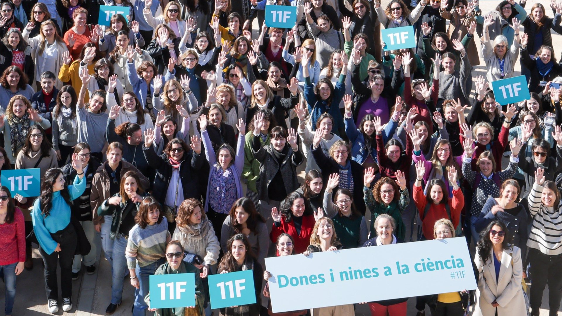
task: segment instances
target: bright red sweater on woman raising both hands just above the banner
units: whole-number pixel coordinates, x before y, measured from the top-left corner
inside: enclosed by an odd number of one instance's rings
[[[427,199],[423,193],[423,188],[414,186],[414,192],[412,195],[414,197],[416,207],[418,207],[420,219],[422,219],[423,236],[427,240],[433,240],[433,225],[439,219],[449,218],[447,209],[444,204],[435,205],[432,203],[429,206],[428,214],[424,214]],[[448,204],[451,209],[451,222],[453,222],[454,227],[457,227],[459,225],[460,212],[464,207],[464,195],[463,192],[460,191],[460,188],[453,190],[453,197],[449,198]]]

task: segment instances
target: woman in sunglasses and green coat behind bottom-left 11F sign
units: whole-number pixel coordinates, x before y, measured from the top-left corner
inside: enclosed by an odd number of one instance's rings
[[[183,261],[185,250],[182,243],[177,240],[170,241],[166,246],[166,263],[162,264],[154,273],[155,276],[162,274],[194,273],[195,274],[195,306],[184,306],[176,308],[155,309],[148,306],[150,312],[156,312],[157,316],[170,315],[204,315],[203,304],[205,295],[203,282],[201,281],[199,269],[194,265]],[[159,295],[159,294],[155,294]],[[150,304],[150,294],[144,299],[146,304]]]

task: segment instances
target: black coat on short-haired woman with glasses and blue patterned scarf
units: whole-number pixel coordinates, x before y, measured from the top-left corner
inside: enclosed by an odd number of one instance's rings
[[[330,174],[339,174],[339,164],[332,157],[326,156],[320,146],[311,150],[312,157],[314,157],[314,161],[316,161],[322,173],[322,180],[324,183],[328,183]],[[353,204],[355,204],[357,211],[365,216],[366,206],[363,200],[363,173],[365,168],[355,160],[351,160],[351,153],[348,153],[348,160],[351,163],[351,174],[353,177]],[[334,192],[337,191],[337,189],[338,187],[334,188]]]

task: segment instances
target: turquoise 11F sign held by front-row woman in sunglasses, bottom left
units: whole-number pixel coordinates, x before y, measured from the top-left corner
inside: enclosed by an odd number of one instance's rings
[[[159,274],[149,277],[150,308],[195,305],[195,274]]]

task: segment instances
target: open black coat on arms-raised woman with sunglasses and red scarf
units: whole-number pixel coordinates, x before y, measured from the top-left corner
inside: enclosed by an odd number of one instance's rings
[[[150,147],[143,146],[143,154],[146,161],[148,161],[148,165],[156,169],[152,195],[160,204],[164,205],[172,176],[172,165],[166,154],[156,155],[154,145]],[[195,154],[193,151],[184,153],[184,160],[179,167],[184,199],[193,197],[201,200],[201,197],[205,195],[206,188],[200,186],[200,170],[203,167],[204,161],[205,157],[201,156],[201,154]]]

